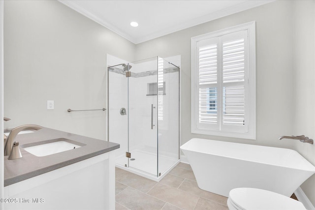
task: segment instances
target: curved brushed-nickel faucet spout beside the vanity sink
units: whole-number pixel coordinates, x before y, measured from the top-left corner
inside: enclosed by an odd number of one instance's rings
[[[19,127],[16,127],[14,129],[11,130],[6,142],[5,142],[5,146],[4,146],[4,156],[6,155],[10,155],[11,154],[11,150],[13,148],[13,144],[15,143],[15,146],[18,146],[18,142],[15,142],[15,138],[18,135],[18,133],[20,131],[24,131],[24,130],[39,130],[42,129],[43,127],[39,126],[39,125],[21,125]],[[17,148],[18,149],[18,148]],[[22,155],[21,155],[22,157]],[[13,158],[15,159],[15,158]]]

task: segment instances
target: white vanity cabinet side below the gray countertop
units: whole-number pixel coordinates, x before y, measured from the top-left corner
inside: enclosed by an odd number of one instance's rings
[[[4,187],[5,210],[114,210],[114,151]]]

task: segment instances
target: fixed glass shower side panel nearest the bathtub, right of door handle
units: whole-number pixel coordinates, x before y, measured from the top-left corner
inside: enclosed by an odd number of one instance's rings
[[[179,160],[179,68],[158,58],[158,174]]]

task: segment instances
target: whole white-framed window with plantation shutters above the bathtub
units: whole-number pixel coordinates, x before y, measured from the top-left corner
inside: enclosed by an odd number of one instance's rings
[[[191,38],[191,132],[255,139],[254,22]]]

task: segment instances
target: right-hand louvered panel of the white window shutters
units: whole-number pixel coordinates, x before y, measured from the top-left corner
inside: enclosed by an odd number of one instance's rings
[[[221,130],[248,131],[247,32],[221,36]]]

